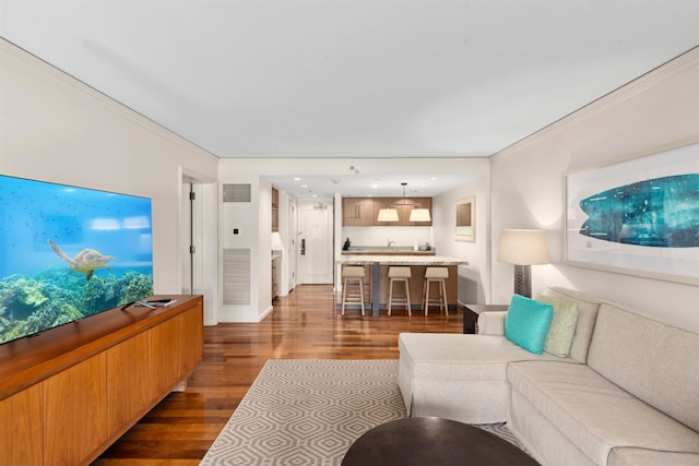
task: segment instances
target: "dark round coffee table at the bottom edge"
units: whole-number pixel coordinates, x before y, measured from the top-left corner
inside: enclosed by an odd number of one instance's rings
[[[467,423],[435,417],[387,422],[347,450],[342,466],[538,465],[499,437]]]

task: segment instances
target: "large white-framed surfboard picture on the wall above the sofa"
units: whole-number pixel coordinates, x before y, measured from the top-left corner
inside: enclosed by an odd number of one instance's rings
[[[564,175],[564,262],[699,286],[699,142]]]

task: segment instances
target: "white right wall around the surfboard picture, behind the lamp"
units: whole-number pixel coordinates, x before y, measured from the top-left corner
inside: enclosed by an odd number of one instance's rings
[[[561,83],[565,85],[565,83]],[[562,174],[699,136],[699,49],[594,101],[491,158],[491,258],[503,228],[548,231],[550,265],[532,266],[534,294],[566,286],[699,330],[699,288],[599,272],[562,261]],[[512,265],[491,259],[494,303],[512,295]]]

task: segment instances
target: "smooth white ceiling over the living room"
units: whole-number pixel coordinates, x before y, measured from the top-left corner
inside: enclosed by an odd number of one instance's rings
[[[699,45],[699,1],[0,0],[0,36],[218,157],[487,157]]]

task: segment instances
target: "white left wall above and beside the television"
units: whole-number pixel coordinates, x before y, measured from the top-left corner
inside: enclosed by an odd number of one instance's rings
[[[151,198],[155,292],[180,292],[182,176],[216,157],[2,39],[0,122],[1,174]]]

